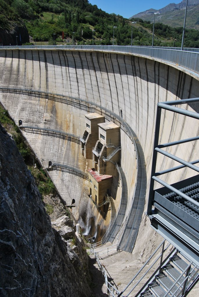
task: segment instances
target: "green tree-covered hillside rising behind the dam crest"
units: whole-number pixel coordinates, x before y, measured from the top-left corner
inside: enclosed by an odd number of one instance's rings
[[[122,5],[122,4],[121,4]],[[76,44],[112,45],[113,27],[115,45],[131,45],[131,21],[133,24],[132,45],[150,46],[153,23],[141,19],[125,19],[108,14],[87,0],[0,0],[0,29],[11,30],[13,23],[23,22],[36,45]],[[23,33],[15,31],[11,42],[3,45],[27,44]],[[16,37],[17,36],[17,37]],[[181,46],[182,27],[172,28],[162,23],[155,24],[154,46]],[[187,30],[185,47],[199,47],[199,31]]]

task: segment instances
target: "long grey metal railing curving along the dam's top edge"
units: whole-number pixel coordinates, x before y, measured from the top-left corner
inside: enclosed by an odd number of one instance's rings
[[[26,45],[26,46],[0,46],[0,50],[83,50],[97,52],[114,52],[133,54],[158,59],[161,62],[182,67],[199,75],[199,50],[195,48],[168,48],[145,46],[118,46],[118,45]]]

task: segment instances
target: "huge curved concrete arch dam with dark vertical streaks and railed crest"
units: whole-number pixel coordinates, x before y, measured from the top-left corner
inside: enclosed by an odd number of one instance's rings
[[[120,174],[114,169],[113,199],[106,214],[99,212],[89,198],[89,181],[73,174],[77,170],[51,170],[49,174],[65,203],[70,205],[75,200],[73,215],[86,234],[100,240],[111,222],[116,222],[117,228],[109,234],[109,240],[114,242],[119,236],[122,249],[133,250],[136,257],[148,257],[162,240],[149,228],[144,214],[157,104],[199,97],[199,72],[187,67],[186,51],[186,62],[181,65],[181,51],[165,49],[176,55],[169,60],[162,58],[162,50],[89,46],[0,48],[0,101],[17,124],[22,121],[21,131],[44,168],[48,168],[49,161],[63,164],[63,168],[74,166],[86,174],[93,167],[93,161],[82,155],[78,139],[84,134],[87,113],[97,112],[105,116],[105,121],[120,127]],[[197,62],[198,53],[192,54],[197,55]],[[188,108],[197,111],[194,104]],[[198,135],[199,127],[189,117],[164,114],[160,138],[165,143],[186,138],[185,127]],[[193,145],[189,151],[182,148],[178,153],[189,161],[198,155],[198,147]],[[172,167],[173,162],[163,156],[159,170]],[[173,184],[190,176],[189,170],[179,170],[167,176],[165,182]],[[125,205],[123,209],[121,204]],[[128,221],[133,208],[134,225],[132,220]],[[132,230],[125,237],[127,227]]]

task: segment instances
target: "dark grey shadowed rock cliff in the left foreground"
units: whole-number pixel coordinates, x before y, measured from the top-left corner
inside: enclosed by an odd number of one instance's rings
[[[65,220],[55,223],[62,234]],[[0,296],[90,296],[72,227],[70,237],[73,246],[52,229],[34,179],[0,125]]]

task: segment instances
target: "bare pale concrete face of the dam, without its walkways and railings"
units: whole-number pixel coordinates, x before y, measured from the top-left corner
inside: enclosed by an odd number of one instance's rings
[[[148,180],[147,203],[156,105],[159,101],[199,97],[198,78],[159,61],[117,53],[37,49],[1,50],[0,61],[1,88],[41,90],[78,97],[101,105],[121,116],[137,135],[144,152]],[[0,100],[16,123],[22,120],[23,125],[67,131],[79,136],[84,133],[84,115],[93,111],[89,109],[89,105],[85,110],[79,102],[74,101],[72,106],[27,94],[0,93]],[[191,106],[189,108],[192,109]],[[163,124],[161,126],[161,138],[164,138],[165,142],[172,141],[174,136],[186,138],[184,126],[187,125],[192,131],[198,133],[198,127],[194,121],[166,114],[164,126]],[[77,143],[28,132],[24,132],[24,135],[46,167],[49,160],[73,164],[84,171],[91,167],[91,160],[82,156],[81,145]],[[137,160],[134,144],[123,130],[120,131],[120,138],[121,167],[128,187],[128,212],[136,183]],[[181,149],[178,153],[182,158],[187,159],[187,151]],[[190,148],[189,158],[197,153],[196,147]],[[164,169],[169,166],[172,167],[172,164],[163,158],[160,167]],[[186,176],[183,178],[189,177],[190,174],[190,172],[185,173]],[[88,199],[88,182],[78,176],[60,171],[52,171],[51,176],[67,203],[75,199],[75,215],[82,225],[85,224],[84,227],[88,229],[91,224],[98,225],[90,230],[92,233],[99,230],[101,225],[101,233],[103,233],[111,214],[108,213],[104,221],[94,211],[94,206],[88,207],[91,203]],[[172,180],[174,183],[181,178],[181,171],[179,171],[178,176],[171,173],[166,181],[169,183]],[[115,197],[116,211],[120,204],[121,191],[120,185]],[[89,216],[87,209],[90,209]],[[95,214],[93,215],[92,212]],[[148,222],[145,221],[146,218],[143,215],[134,248],[134,252],[139,254],[145,249],[148,236],[151,236],[152,241],[156,241],[156,236],[153,237],[154,231],[151,228],[146,230],[145,225],[148,225]],[[141,241],[140,238],[142,238]],[[151,252],[150,249],[152,247],[149,247],[148,253]]]

